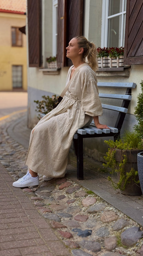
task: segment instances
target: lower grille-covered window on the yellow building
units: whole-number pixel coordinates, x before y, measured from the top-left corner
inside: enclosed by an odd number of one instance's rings
[[[12,87],[22,88],[22,66],[12,66]]]

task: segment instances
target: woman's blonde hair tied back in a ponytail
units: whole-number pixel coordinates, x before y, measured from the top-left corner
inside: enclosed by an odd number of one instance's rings
[[[83,61],[86,61],[92,70],[96,71],[98,69],[98,61],[97,61],[97,49],[94,43],[90,43],[86,37],[84,36],[76,36],[77,43],[79,48],[84,48],[83,52]]]

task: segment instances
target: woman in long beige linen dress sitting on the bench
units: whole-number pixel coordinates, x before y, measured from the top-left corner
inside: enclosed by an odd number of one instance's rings
[[[25,161],[28,172],[13,182],[15,187],[38,185],[38,173],[44,174],[44,180],[64,177],[69,148],[77,129],[90,124],[93,118],[97,128],[108,128],[107,125],[100,124],[98,119],[102,115],[102,106],[94,71],[98,67],[95,44],[83,36],[78,36],[70,40],[66,50],[66,56],[73,62],[66,84],[76,68],[85,63],[86,57],[88,64],[75,74],[58,106],[45,115],[31,131]]]

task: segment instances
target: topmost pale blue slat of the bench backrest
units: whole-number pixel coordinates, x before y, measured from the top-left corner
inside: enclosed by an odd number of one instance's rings
[[[135,88],[135,83],[110,83],[110,82],[98,82],[98,87],[114,87],[114,88]]]

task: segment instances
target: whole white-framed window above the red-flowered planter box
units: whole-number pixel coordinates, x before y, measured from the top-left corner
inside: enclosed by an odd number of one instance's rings
[[[101,47],[124,47],[126,0],[103,0]]]

